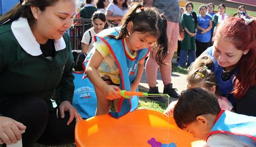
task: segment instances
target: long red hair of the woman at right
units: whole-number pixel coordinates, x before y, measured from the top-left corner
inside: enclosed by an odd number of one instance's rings
[[[242,18],[231,17],[220,23],[215,33],[230,41],[238,50],[249,50],[238,61],[239,68],[234,77],[232,94],[239,99],[250,87],[256,86],[256,20],[246,24]]]

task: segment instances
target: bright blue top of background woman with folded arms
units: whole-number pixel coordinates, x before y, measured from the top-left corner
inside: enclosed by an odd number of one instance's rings
[[[202,17],[201,15],[197,16],[198,25],[202,27],[203,29],[207,29],[207,27],[210,25],[210,20],[212,20],[211,16],[205,15],[205,17]],[[201,30],[197,31],[196,39],[200,41],[201,43],[208,43],[211,40],[211,31],[207,31],[204,34],[201,34]]]

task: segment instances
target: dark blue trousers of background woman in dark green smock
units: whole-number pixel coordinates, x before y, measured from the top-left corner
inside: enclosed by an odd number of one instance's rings
[[[194,50],[180,50],[178,66],[185,66],[188,57],[188,65],[196,60],[196,52]]]

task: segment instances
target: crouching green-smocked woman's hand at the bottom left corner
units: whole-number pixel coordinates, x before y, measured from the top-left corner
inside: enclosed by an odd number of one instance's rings
[[[12,144],[21,140],[21,130],[26,126],[9,117],[0,116],[0,144]]]

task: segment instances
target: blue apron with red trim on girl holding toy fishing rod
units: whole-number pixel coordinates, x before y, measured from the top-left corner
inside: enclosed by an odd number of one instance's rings
[[[109,50],[112,53],[113,58],[116,61],[120,71],[120,89],[130,91],[131,90],[130,84],[136,78],[136,75],[137,75],[138,62],[140,60],[144,60],[146,55],[149,53],[149,48],[138,50],[137,57],[135,59],[129,58],[129,56],[125,52],[124,39],[117,40],[110,37],[106,37],[108,34],[113,34],[117,36],[119,30],[120,30],[120,27],[112,27],[110,29],[103,30],[100,33],[98,33],[94,39],[95,39],[95,42],[97,40],[104,41],[104,43],[109,47]],[[87,61],[89,61],[92,53],[95,50],[96,49],[93,48],[92,51],[87,55],[84,62],[84,67],[86,67]],[[84,76],[86,76],[86,73],[84,74]],[[124,97],[122,97],[119,102],[118,113],[111,112],[110,115],[115,118],[119,118],[129,113],[130,111],[133,111],[137,107],[138,107],[137,96],[130,97],[129,99],[124,99]]]

